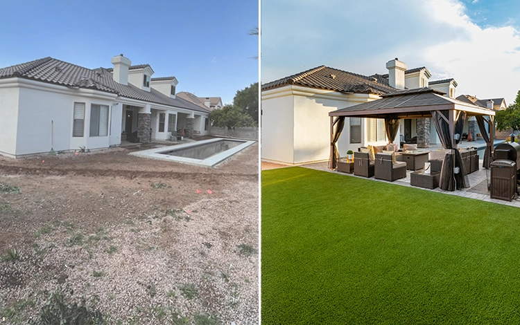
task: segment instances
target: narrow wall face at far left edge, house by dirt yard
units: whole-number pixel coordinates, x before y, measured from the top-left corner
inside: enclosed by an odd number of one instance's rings
[[[0,154],[16,155],[19,89],[1,88],[0,84]]]

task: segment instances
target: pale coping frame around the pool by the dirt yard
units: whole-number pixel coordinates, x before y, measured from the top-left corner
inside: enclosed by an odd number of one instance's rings
[[[236,141],[236,142],[243,142],[243,143],[241,145],[238,145],[231,149],[227,149],[226,151],[220,152],[220,154],[216,154],[216,155],[206,158],[204,160],[195,159],[195,158],[168,156],[165,154],[161,154],[161,152],[164,152],[164,151],[172,151],[172,150],[177,150],[177,149],[186,149],[186,148],[190,148],[190,147],[197,147],[200,145],[205,145],[205,144],[212,143],[212,142],[218,142],[221,140]],[[214,138],[214,139],[209,139],[209,140],[185,143],[184,145],[173,145],[173,146],[168,146],[168,147],[160,147],[160,148],[146,149],[146,150],[142,150],[142,151],[135,151],[135,152],[131,152],[130,154],[133,156],[139,156],[139,157],[144,157],[144,158],[167,160],[167,161],[171,161],[173,163],[182,163],[182,164],[197,165],[197,166],[203,166],[203,167],[214,167],[218,163],[221,163],[223,160],[233,156],[237,152],[254,144],[254,142],[255,141],[251,141],[251,140]]]

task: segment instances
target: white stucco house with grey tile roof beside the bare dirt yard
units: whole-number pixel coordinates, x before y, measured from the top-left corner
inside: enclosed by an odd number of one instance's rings
[[[0,154],[103,149],[209,134],[209,110],[175,96],[175,77],[123,55],[113,68],[84,68],[52,57],[0,68]],[[125,139],[126,138],[126,139]]]

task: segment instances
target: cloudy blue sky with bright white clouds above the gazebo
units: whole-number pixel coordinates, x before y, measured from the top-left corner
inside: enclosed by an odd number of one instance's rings
[[[325,65],[388,73],[399,59],[453,77],[456,95],[484,99],[520,90],[520,1],[263,0],[261,82]]]

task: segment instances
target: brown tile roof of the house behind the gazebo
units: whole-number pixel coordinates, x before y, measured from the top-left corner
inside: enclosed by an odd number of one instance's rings
[[[318,66],[302,73],[268,82],[262,85],[262,91],[275,89],[288,84],[317,89],[328,89],[340,93],[374,93],[382,95],[395,91],[387,82],[379,82],[379,75],[358,75],[336,68]]]

